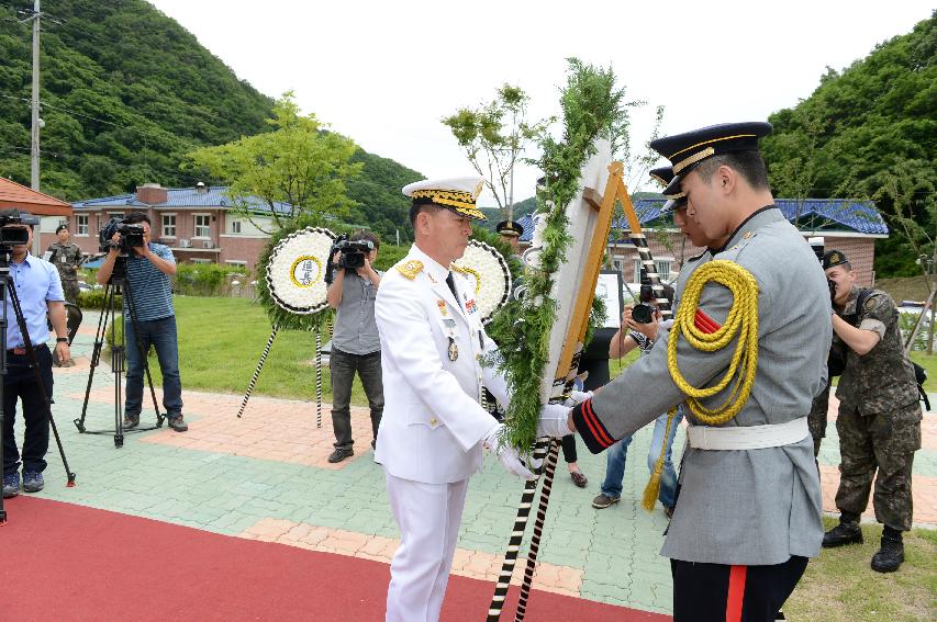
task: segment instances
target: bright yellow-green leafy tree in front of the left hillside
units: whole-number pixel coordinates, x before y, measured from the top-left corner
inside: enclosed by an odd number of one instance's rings
[[[203,147],[187,154],[194,167],[230,183],[233,207],[265,233],[281,228],[288,220],[308,216],[320,220],[342,217],[354,201],[346,194],[346,181],[361,170],[352,162],[357,146],[350,138],[327,132],[315,114],[301,116],[292,92],[274,104],[276,129],[246,136],[226,145]],[[260,199],[269,207],[270,230],[252,204]],[[286,203],[287,205],[278,205]],[[266,227],[266,228],[265,228]]]

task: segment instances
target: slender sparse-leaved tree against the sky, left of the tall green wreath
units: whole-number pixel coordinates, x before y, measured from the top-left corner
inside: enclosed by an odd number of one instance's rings
[[[509,219],[514,217],[514,165],[553,121],[528,123],[529,100],[520,87],[505,83],[491,102],[459,109],[442,120]]]

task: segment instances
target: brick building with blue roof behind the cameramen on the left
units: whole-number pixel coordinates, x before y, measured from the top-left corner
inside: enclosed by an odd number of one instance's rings
[[[147,183],[133,194],[89,199],[72,203],[71,240],[83,252],[98,253],[98,231],[112,217],[145,212],[153,241],[172,249],[176,261],[221,263],[254,270],[274,228],[270,207],[260,199],[248,202],[248,219],[232,210],[226,186],[161,188]],[[275,210],[287,212],[287,204]],[[252,222],[253,220],[253,222]],[[258,228],[259,226],[259,228]]]

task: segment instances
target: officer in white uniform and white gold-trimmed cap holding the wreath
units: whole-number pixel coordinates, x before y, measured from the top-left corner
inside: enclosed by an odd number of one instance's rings
[[[468,246],[480,178],[420,181],[412,197],[415,242],[381,281],[375,317],[381,339],[384,411],[375,461],[383,465],[400,547],[390,566],[388,622],[439,618],[469,477],[492,450],[514,475],[533,478],[501,443],[503,425],[480,405],[482,385],[507,403],[503,377],[479,359],[484,333],[475,287],[450,263]]]

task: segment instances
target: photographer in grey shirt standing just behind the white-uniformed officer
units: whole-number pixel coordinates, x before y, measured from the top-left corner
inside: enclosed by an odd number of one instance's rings
[[[381,274],[375,270],[380,240],[369,231],[357,231],[350,239],[344,236],[332,248],[326,275],[330,278],[326,301],[335,309],[332,331],[332,352],[328,370],[332,374],[332,429],[335,450],[328,462],[342,462],[355,455],[352,439],[352,382],[355,372],[361,378],[371,409],[371,448],[376,446],[378,426],[383,414],[381,380],[381,342],[375,323],[375,297]]]

